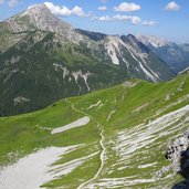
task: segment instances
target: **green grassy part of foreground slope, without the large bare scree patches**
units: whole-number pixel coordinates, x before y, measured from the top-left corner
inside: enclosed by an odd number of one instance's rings
[[[165,159],[165,154],[170,139],[189,126],[183,122],[189,113],[171,124],[166,123],[167,125],[158,129],[156,125],[151,125],[155,128],[149,125],[149,128],[157,129],[150,135],[147,125],[162,115],[186,106],[189,103],[188,86],[187,73],[159,84],[133,80],[108,90],[59,101],[43,111],[0,118],[0,166],[13,164],[40,148],[84,144],[81,148],[63,156],[56,164],[69,162],[93,153],[96,155],[72,172],[45,183],[45,187],[74,189],[92,179],[102,165],[99,156],[104,150],[102,170],[97,178],[86,186],[94,183],[96,188],[101,188],[99,186],[108,188],[108,183],[114,186],[113,188],[164,188],[165,186],[170,188],[180,178],[170,175],[171,170],[161,172],[161,169],[170,164]],[[51,135],[49,128],[61,127],[83,116],[92,116],[86,126]],[[144,125],[138,126],[139,124]],[[177,127],[178,124],[181,124],[180,127]],[[171,129],[172,132],[165,133]],[[99,144],[102,132],[105,149]],[[139,133],[143,137],[147,136],[143,143]],[[129,147],[129,136],[133,136],[132,147]],[[151,137],[155,139],[143,146]],[[126,141],[128,144],[125,145]],[[134,146],[137,146],[134,153],[127,154]],[[143,165],[148,166],[140,168]],[[123,178],[124,181],[118,187],[116,180]],[[112,183],[109,180],[115,182]],[[84,185],[83,188],[86,186]]]

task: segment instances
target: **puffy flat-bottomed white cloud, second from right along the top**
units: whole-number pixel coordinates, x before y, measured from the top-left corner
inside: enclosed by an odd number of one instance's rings
[[[114,7],[114,10],[119,12],[133,12],[138,11],[140,9],[141,7],[139,4],[128,2],[123,2],[118,7]]]

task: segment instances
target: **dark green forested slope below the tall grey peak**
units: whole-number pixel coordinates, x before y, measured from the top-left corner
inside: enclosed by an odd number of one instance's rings
[[[128,77],[120,67],[90,56],[85,46],[78,49],[59,38],[51,32],[31,32],[2,53],[1,115],[42,108],[61,97],[115,85]]]

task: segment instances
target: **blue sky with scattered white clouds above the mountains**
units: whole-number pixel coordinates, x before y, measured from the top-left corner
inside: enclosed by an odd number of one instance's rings
[[[0,0],[0,20],[44,2],[74,28],[189,42],[189,0]]]

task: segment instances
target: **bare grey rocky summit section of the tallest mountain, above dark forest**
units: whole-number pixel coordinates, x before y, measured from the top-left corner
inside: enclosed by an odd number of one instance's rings
[[[72,25],[54,17],[45,4],[38,4],[31,9],[28,9],[25,12],[7,19],[4,22],[0,23],[0,27],[1,38],[6,38],[7,35],[12,35],[14,38],[19,36],[18,39],[15,39],[17,42],[19,42],[22,36],[28,34],[29,32],[35,31],[59,33],[60,35],[66,38],[66,40],[75,43],[78,43],[78,41],[83,40],[82,35],[75,32]],[[10,43],[9,41],[12,43]],[[7,44],[6,50],[10,48],[14,41],[11,39],[8,40],[8,42],[10,44]],[[3,50],[4,49],[1,49],[1,51]]]

